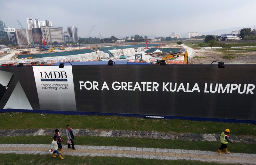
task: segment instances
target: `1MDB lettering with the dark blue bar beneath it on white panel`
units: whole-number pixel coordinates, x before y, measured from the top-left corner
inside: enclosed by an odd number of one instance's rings
[[[40,71],[41,81],[68,81],[67,72],[65,71]]]

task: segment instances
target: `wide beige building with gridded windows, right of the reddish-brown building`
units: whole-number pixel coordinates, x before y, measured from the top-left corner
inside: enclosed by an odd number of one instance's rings
[[[42,26],[41,30],[42,37],[45,38],[47,45],[52,45],[55,41],[61,44],[64,43],[62,27]]]

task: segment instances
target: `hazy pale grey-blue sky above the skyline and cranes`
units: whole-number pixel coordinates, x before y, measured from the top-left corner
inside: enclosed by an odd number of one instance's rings
[[[0,19],[19,29],[27,18],[52,26],[77,26],[79,37],[170,36],[256,25],[255,0],[1,0]],[[238,30],[238,29],[237,29]]]

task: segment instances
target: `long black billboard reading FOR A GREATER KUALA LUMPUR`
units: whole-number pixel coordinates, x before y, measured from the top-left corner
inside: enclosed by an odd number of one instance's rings
[[[255,65],[6,66],[0,109],[255,122],[255,71]]]

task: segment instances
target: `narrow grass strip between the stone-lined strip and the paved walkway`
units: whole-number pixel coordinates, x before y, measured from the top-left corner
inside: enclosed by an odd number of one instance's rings
[[[51,144],[52,136],[16,136],[2,137],[0,143],[10,144]],[[67,144],[66,137],[63,136],[62,144]],[[217,151],[220,142],[209,141],[189,141],[189,140],[166,140],[150,138],[122,138],[122,137],[86,137],[75,136],[74,144],[87,146],[126,146],[126,147],[148,147],[148,148],[172,148],[189,149],[202,151]],[[234,143],[228,144],[231,152],[256,154],[256,144]]]

